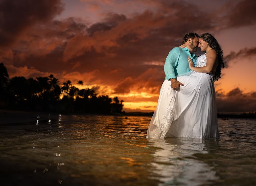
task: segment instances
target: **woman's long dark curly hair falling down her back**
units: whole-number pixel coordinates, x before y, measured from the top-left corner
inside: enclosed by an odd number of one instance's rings
[[[216,67],[215,74],[213,76],[213,80],[217,81],[219,78],[221,78],[221,68],[225,67],[224,61],[223,61],[223,51],[221,49],[221,46],[217,42],[217,40],[209,33],[203,33],[199,36],[199,38],[202,38],[205,42],[209,44],[209,46],[217,52],[218,55],[218,65]]]

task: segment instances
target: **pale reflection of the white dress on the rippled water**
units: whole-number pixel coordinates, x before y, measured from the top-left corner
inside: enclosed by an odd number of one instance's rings
[[[166,138],[148,141],[150,147],[157,148],[151,166],[162,182],[160,185],[204,185],[218,179],[212,166],[194,156],[208,153],[205,140]]]

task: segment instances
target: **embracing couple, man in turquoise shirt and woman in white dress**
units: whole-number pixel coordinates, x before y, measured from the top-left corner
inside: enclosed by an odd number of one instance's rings
[[[205,54],[197,57],[200,47]],[[147,138],[219,137],[214,81],[224,67],[223,51],[209,33],[187,33],[166,58],[165,81]]]

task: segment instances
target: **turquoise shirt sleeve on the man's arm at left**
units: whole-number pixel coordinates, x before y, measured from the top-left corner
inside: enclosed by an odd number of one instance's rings
[[[179,59],[179,49],[177,47],[173,48],[165,60],[164,70],[165,70],[165,76],[167,79],[176,78],[174,67],[176,62]]]

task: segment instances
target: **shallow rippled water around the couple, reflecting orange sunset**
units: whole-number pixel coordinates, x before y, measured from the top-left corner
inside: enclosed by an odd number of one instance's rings
[[[219,119],[220,139],[146,139],[151,117],[39,117],[0,126],[0,185],[256,184],[255,119]]]

